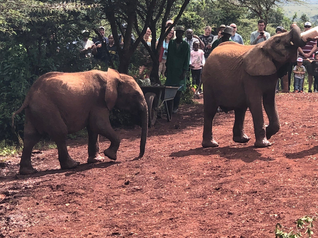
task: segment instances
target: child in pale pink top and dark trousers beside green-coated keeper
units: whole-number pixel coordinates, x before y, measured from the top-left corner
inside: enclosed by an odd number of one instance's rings
[[[197,87],[200,84],[201,69],[205,64],[204,52],[199,50],[199,42],[193,42],[193,51],[190,52],[190,68],[192,74],[192,84]]]

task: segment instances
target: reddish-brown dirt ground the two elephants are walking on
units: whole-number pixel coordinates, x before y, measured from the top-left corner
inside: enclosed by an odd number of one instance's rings
[[[57,150],[32,157],[20,176],[19,157],[0,168],[0,237],[275,237],[277,222],[318,207],[318,94],[278,94],[281,128],[272,146],[232,141],[234,113],[218,113],[218,148],[201,147],[203,100],[185,105],[171,122],[149,129],[139,154],[140,128],[118,130],[116,162],[89,165],[87,142],[70,140],[77,169],[60,170]],[[266,118],[266,122],[268,122]],[[109,142],[101,138],[102,151]]]

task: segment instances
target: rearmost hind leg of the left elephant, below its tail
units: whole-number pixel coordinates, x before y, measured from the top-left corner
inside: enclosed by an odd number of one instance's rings
[[[29,112],[25,111],[25,125],[24,125],[24,140],[23,140],[23,150],[20,161],[20,170],[21,175],[33,174],[37,170],[32,167],[31,164],[31,153],[34,145],[40,140],[40,134],[31,124],[28,119]]]

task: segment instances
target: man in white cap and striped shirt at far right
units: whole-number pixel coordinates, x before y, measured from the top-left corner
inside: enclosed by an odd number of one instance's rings
[[[311,23],[305,22],[304,32],[311,29]],[[314,60],[314,52],[317,50],[317,40],[311,40],[306,43],[306,46],[298,47],[298,57],[303,59],[303,66],[305,66],[308,73],[308,93],[312,93],[311,86],[313,83],[313,67],[309,60]]]

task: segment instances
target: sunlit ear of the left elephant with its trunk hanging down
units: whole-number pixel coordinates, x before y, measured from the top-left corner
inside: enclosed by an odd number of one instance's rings
[[[120,83],[121,76],[118,71],[108,68],[107,83],[105,89],[105,102],[109,110],[112,110],[116,104],[118,97],[118,86]]]

